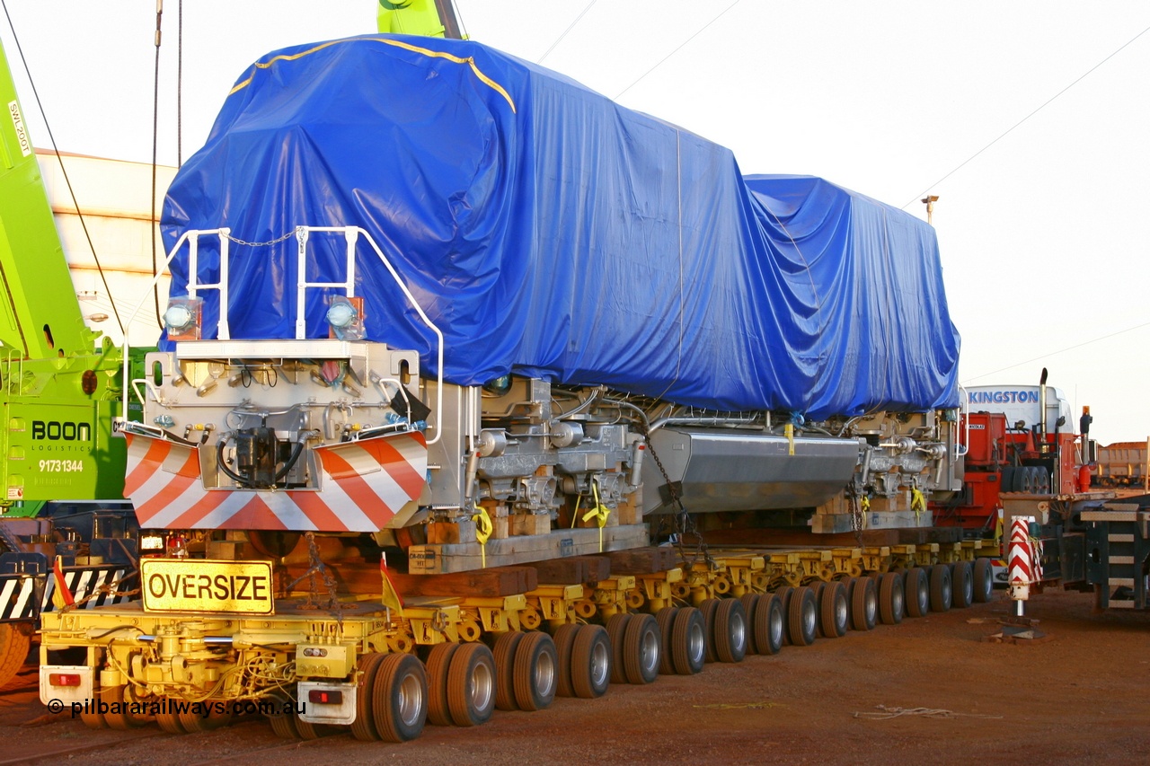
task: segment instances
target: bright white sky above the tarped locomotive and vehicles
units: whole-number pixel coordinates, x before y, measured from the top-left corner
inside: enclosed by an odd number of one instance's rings
[[[473,39],[536,61],[589,2],[457,7]],[[1147,438],[1150,32],[931,184],[1150,28],[1150,3],[741,0],[723,13],[731,2],[597,0],[544,63],[614,98],[682,45],[618,100],[731,147],[745,173],[818,175],[896,207],[929,187],[963,382],[1033,384],[1046,366],[1075,420],[1091,407],[1101,443]],[[59,148],[150,161],[154,0],[5,5]],[[164,2],[167,163],[177,10]],[[189,0],[183,13],[185,158],[252,61],[375,31],[373,0]],[[0,28],[33,141],[48,147]]]

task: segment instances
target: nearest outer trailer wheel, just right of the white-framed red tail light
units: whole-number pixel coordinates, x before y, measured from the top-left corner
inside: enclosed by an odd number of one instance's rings
[[[486,715],[491,717],[491,688],[494,685],[494,658],[483,644],[467,644],[473,650],[473,659],[488,669]],[[452,660],[462,657],[455,653]],[[375,728],[384,742],[407,742],[423,733],[428,720],[428,676],[423,662],[411,654],[388,654],[379,662],[373,694]],[[475,702],[473,699],[473,702]],[[470,705],[469,705],[470,707]],[[486,720],[486,719],[484,719]]]

